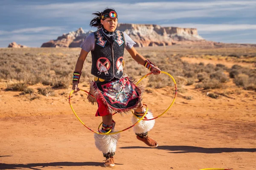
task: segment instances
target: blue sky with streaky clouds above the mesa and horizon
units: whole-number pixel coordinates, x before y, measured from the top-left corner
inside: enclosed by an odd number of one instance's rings
[[[115,8],[119,23],[197,28],[206,40],[256,44],[256,0],[0,0],[0,47],[29,47],[93,30],[93,12]]]

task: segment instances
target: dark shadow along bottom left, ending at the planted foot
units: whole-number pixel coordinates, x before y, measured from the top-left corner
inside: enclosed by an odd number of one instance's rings
[[[116,164],[116,163],[115,163]],[[22,170],[23,168],[32,170],[41,170],[44,167],[63,168],[77,167],[77,166],[99,166],[104,167],[102,162],[49,162],[49,163],[35,163],[35,164],[1,164],[0,170]]]

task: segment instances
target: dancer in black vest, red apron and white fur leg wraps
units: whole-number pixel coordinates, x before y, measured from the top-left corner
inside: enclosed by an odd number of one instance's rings
[[[90,26],[98,28],[97,31],[89,34],[81,43],[81,53],[76,63],[73,74],[73,90],[79,91],[78,83],[81,77],[84,60],[91,51],[92,68],[91,74],[94,81],[91,82],[90,93],[96,99],[88,95],[88,100],[97,102],[98,110],[95,116],[102,116],[102,133],[115,132],[115,122],[112,114],[115,112],[126,113],[134,109],[137,115],[132,117],[132,123],[141,118],[146,108],[141,102],[142,90],[136,86],[131,79],[123,76],[124,50],[126,49],[131,57],[139,64],[144,65],[153,74],[160,74],[160,69],[148,59],[140,55],[133,47],[136,44],[131,37],[124,32],[116,30],[118,17],[113,8],[106,8],[102,12],[93,13],[96,17],[90,22]],[[144,119],[152,119],[153,114],[148,111]],[[137,139],[147,144],[149,147],[157,147],[157,142],[148,136],[148,131],[154,127],[155,120],[140,121],[135,125],[134,132]],[[94,135],[96,147],[102,151],[106,158],[104,166],[114,166],[114,154],[119,133],[113,135]]]

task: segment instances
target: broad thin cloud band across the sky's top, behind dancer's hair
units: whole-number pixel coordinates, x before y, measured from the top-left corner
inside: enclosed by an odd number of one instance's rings
[[[47,5],[27,5],[23,12],[36,11],[35,17],[67,18],[71,21],[89,20],[92,13],[106,7],[117,10],[120,19],[127,21],[170,20],[191,17],[244,17],[255,14],[256,1],[209,1],[209,2],[143,2],[121,3],[93,1],[75,3],[52,3]]]

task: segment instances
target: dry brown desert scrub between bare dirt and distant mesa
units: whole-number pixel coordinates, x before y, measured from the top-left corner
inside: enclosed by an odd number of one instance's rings
[[[178,90],[192,85],[195,89],[227,88],[233,82],[244,90],[256,90],[256,69],[241,65],[227,67],[224,64],[190,63],[182,58],[203,58],[232,62],[256,63],[256,49],[194,49],[180,47],[137,48],[145,58],[154,62],[162,71],[171,74],[176,80]],[[6,82],[6,91],[21,91],[30,94],[31,99],[38,95],[55,95],[54,89],[68,88],[72,85],[73,71],[79,57],[79,48],[26,48],[0,49],[0,81]],[[124,73],[135,79],[148,74],[148,70],[137,64],[125,52]],[[81,75],[80,83],[88,86],[93,80],[90,74],[91,55],[89,54]],[[172,87],[174,83],[168,76],[150,76],[143,82],[148,88]],[[37,88],[31,88],[35,85]],[[216,97],[217,98],[217,97]]]

